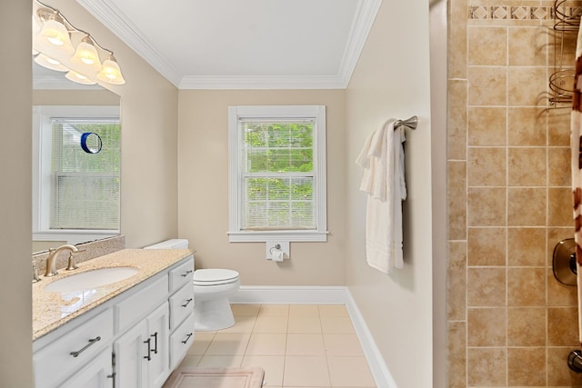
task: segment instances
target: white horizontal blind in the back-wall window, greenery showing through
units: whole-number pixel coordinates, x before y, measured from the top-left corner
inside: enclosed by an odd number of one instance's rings
[[[315,120],[241,119],[242,230],[314,230]]]

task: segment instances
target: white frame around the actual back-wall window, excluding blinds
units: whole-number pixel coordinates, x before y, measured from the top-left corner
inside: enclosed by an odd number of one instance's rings
[[[242,168],[238,122],[241,119],[315,119],[313,137],[314,196],[316,229],[314,230],[242,230]],[[237,105],[228,107],[228,240],[230,243],[266,242],[326,242],[326,106],[325,105]]]

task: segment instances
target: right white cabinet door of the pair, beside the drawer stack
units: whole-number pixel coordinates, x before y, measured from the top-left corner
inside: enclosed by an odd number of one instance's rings
[[[149,350],[149,359],[146,359],[148,371],[148,383],[144,387],[161,387],[167,379],[169,372],[168,330],[169,309],[168,304],[163,303],[154,313],[146,318],[147,335],[146,352]],[[149,346],[149,349],[147,348]],[[145,354],[147,356],[147,353]]]

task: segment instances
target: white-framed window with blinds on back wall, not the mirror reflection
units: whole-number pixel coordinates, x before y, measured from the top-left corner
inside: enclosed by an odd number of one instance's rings
[[[326,241],[326,107],[231,106],[229,240]]]

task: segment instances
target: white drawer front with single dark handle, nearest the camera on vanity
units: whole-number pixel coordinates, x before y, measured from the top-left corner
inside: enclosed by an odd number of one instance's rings
[[[33,354],[35,387],[55,386],[65,376],[93,360],[113,338],[113,311],[99,313],[89,321]],[[76,354],[76,356],[75,356]]]

